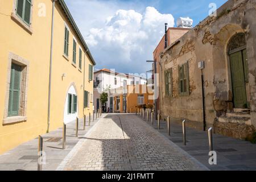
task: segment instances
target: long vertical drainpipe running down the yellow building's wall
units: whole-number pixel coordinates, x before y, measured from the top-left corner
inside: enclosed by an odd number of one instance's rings
[[[49,133],[50,125],[50,111],[51,111],[51,85],[52,85],[52,46],[53,46],[53,25],[54,25],[54,9],[55,2],[58,0],[52,1],[52,30],[51,30],[51,53],[50,53],[50,65],[49,65],[49,87],[48,87],[48,117],[47,117],[47,133]]]

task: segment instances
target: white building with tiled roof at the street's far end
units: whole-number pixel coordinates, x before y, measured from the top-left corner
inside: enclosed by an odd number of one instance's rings
[[[146,76],[146,75],[145,75]],[[126,85],[145,85],[147,84],[146,78],[139,75],[118,73],[114,70],[101,69],[94,72],[94,90],[93,90],[93,103],[94,110],[101,107],[100,94],[106,92],[109,94],[109,90],[118,89],[121,87],[126,88]],[[110,95],[110,94],[109,94]],[[105,107],[113,111],[113,97],[108,98],[108,102]]]

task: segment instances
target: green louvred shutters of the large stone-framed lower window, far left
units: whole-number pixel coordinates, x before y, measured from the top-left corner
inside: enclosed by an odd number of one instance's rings
[[[22,68],[11,64],[8,116],[19,115],[20,75]]]

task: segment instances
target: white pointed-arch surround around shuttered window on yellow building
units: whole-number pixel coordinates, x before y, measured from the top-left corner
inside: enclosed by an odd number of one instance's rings
[[[77,96],[77,112],[75,114],[68,114],[68,94],[69,93],[76,94]],[[64,123],[75,121],[76,117],[79,116],[79,96],[78,96],[75,82],[71,82],[71,84],[69,84],[68,89],[66,90],[63,115],[64,115]]]

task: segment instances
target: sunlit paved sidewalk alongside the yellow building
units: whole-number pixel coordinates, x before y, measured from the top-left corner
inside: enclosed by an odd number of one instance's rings
[[[104,114],[102,114],[104,117]],[[68,123],[66,135],[66,148],[62,149],[63,129],[59,128],[43,137],[43,150],[46,152],[46,165],[43,165],[43,171],[54,171],[63,159],[69,154],[73,147],[83,139],[83,136],[99,121],[99,118],[90,122],[89,117],[86,118],[86,127],[84,129],[84,121],[79,121],[79,138],[75,137],[76,122]],[[13,150],[0,155],[0,171],[36,171],[38,169],[38,138],[23,143]]]

